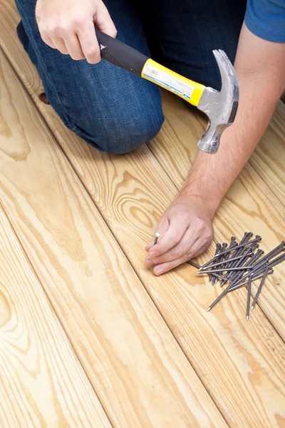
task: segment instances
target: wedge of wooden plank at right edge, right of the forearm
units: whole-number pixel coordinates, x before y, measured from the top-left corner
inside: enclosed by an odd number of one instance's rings
[[[282,101],[249,162],[285,206],[285,104]]]

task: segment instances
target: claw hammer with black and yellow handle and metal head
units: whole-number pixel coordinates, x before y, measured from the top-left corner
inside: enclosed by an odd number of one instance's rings
[[[209,124],[197,146],[206,153],[217,153],[221,135],[234,122],[239,104],[237,74],[224,51],[213,51],[222,77],[222,89],[216,91],[180,76],[98,29],[95,29],[95,32],[100,54],[106,61],[176,93],[177,96],[206,113]]]

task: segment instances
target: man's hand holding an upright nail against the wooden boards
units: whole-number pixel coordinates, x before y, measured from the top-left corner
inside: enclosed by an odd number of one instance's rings
[[[212,211],[202,198],[180,193],[157,224],[161,238],[145,247],[145,263],[161,275],[207,250],[212,241]]]

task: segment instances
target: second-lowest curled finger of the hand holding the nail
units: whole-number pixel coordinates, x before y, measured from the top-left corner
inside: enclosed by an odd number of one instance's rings
[[[191,250],[192,245],[198,238],[198,235],[199,234],[197,230],[193,228],[188,228],[185,234],[180,239],[180,241],[177,243],[177,245],[170,248],[170,250],[166,251],[166,253],[163,253],[162,255],[158,255],[157,257],[153,258],[155,265],[170,262],[172,260],[176,260],[177,258],[183,257],[183,255],[185,255]]]

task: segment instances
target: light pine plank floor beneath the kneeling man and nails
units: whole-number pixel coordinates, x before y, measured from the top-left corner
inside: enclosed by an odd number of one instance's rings
[[[206,312],[220,289],[195,268],[145,267],[204,120],[165,93],[154,141],[126,156],[93,150],[41,101],[18,21],[1,0],[0,427],[285,427],[285,263],[249,321],[244,288]],[[251,230],[264,250],[280,243],[284,177],[280,101],[214,240]]]

